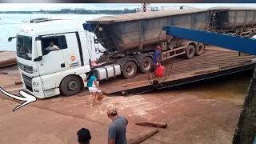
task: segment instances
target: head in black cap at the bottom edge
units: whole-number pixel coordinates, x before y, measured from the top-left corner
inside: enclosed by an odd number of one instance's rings
[[[78,142],[79,144],[90,144],[90,131],[88,129],[82,128],[78,130]]]

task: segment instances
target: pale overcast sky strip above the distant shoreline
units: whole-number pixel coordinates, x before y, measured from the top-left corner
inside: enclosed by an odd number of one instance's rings
[[[208,8],[208,7],[214,7],[214,6],[253,6],[256,7],[256,4],[225,4],[225,3],[214,3],[214,4],[201,4],[201,3],[182,3],[182,4],[171,4],[171,3],[153,3],[151,4],[155,7],[160,6],[192,6],[197,8]],[[123,10],[124,8],[134,9],[138,8],[140,4],[138,3],[106,3],[106,4],[64,4],[64,3],[41,3],[41,4],[29,4],[29,3],[0,3],[0,11],[11,11],[11,10],[60,10],[63,8],[85,8],[90,10]]]

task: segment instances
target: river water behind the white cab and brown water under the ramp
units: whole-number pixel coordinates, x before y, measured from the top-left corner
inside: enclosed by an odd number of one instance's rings
[[[53,17],[80,17],[81,19],[90,20],[103,15],[93,14],[0,14],[0,51],[15,50],[15,41],[8,42],[7,38],[13,37],[22,20],[29,21],[30,18],[53,18]],[[94,58],[98,55],[94,54]],[[229,99],[233,102],[241,103],[246,94],[247,87],[250,83],[252,71],[246,71],[239,74],[233,74],[222,78],[214,78],[204,82],[195,82],[193,84],[179,86],[178,90],[197,94],[198,96],[207,96],[214,98]],[[175,88],[177,89],[177,88]]]

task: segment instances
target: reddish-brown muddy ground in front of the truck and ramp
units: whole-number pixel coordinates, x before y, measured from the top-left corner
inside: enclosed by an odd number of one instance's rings
[[[17,94],[22,85],[14,85],[20,81],[19,74],[15,67],[11,71],[0,74],[0,86]],[[150,129],[136,126],[135,122],[149,120],[166,122],[168,126],[142,144],[228,144],[242,108],[242,101],[198,95],[193,89],[105,98],[93,107],[89,99],[85,93],[47,98],[12,112],[18,102],[0,94],[0,143],[76,144],[76,132],[82,127],[90,130],[92,144],[107,143],[111,121],[105,108],[108,103],[114,103],[118,106],[118,114],[126,115],[129,120],[128,139]]]

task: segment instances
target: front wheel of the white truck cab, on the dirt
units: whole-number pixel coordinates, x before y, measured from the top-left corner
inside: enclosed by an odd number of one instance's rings
[[[81,90],[81,81],[77,76],[69,75],[61,82],[60,90],[65,96],[71,96],[78,94]]]

